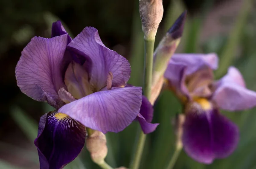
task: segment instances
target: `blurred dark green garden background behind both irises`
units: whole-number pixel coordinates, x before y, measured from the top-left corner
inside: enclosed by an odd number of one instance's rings
[[[33,141],[41,115],[52,110],[20,92],[15,66],[20,52],[33,36],[50,37],[51,24],[61,20],[71,36],[86,26],[99,30],[106,46],[131,63],[130,83],[142,86],[143,32],[138,0],[0,0],[0,169],[39,168]],[[235,65],[247,87],[256,90],[256,1],[255,0],[163,0],[164,17],[156,44],[174,20],[188,10],[185,30],[177,53],[215,52],[220,57],[215,77]],[[174,151],[172,118],[181,111],[175,96],[164,91],[154,105],[153,122],[160,123],[148,135],[141,169],[163,169]],[[239,146],[230,157],[210,165],[193,161],[184,152],[175,169],[256,169],[256,109],[223,112],[240,128]],[[106,161],[113,167],[129,166],[138,124],[108,133]],[[65,169],[98,169],[86,149]]]

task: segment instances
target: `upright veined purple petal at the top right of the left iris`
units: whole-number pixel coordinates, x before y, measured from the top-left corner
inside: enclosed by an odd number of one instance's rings
[[[108,72],[113,73],[113,87],[125,86],[130,78],[131,68],[128,60],[103,45],[98,31],[86,27],[68,45],[76,54],[90,62],[90,83],[100,90],[106,85]]]

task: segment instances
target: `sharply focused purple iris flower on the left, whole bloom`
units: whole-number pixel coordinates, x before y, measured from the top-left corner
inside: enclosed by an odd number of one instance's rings
[[[73,161],[84,147],[85,127],[119,132],[135,118],[146,133],[157,127],[142,88],[125,87],[129,62],[105,47],[93,27],[71,39],[60,21],[53,23],[52,38],[32,38],[15,73],[23,93],[56,109],[40,118],[35,145],[41,169]]]

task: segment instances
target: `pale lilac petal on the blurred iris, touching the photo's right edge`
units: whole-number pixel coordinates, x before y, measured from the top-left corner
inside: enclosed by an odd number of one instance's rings
[[[231,67],[227,75],[215,82],[212,99],[221,109],[236,111],[256,106],[256,92],[245,88],[244,79],[238,69]]]

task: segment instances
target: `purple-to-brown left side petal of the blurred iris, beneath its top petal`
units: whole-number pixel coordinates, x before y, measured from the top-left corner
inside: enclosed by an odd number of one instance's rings
[[[164,73],[168,79],[169,85],[176,95],[181,99],[190,99],[189,91],[185,85],[186,65],[175,63],[170,60],[169,65]]]

